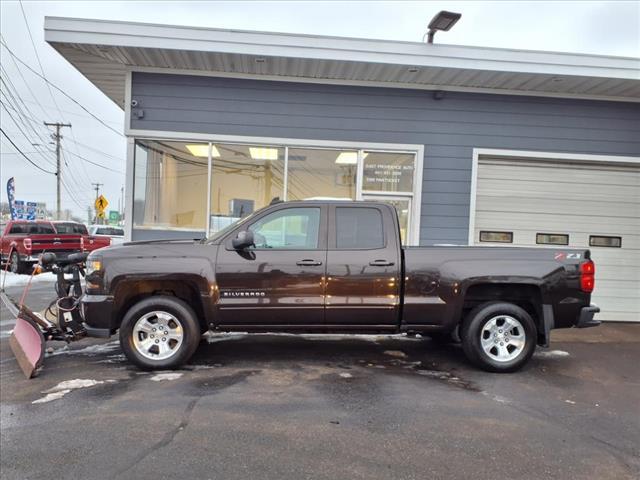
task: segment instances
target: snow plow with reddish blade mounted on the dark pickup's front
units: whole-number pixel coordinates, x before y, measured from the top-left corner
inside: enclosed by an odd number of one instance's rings
[[[0,290],[2,302],[16,318],[9,345],[27,378],[37,375],[42,367],[47,341],[72,342],[86,336],[86,330],[82,325],[80,298],[81,279],[85,275],[84,263],[87,255],[75,253],[64,261],[59,261],[55,253],[44,253],[34,265],[20,301],[9,297],[4,288]],[[56,275],[57,298],[43,312],[38,313],[27,307],[24,302],[33,277],[43,272]]]

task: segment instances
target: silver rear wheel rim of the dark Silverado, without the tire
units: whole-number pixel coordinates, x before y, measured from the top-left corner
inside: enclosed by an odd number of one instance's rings
[[[509,315],[498,315],[484,324],[480,344],[496,362],[509,362],[524,350],[526,333],[522,324]]]

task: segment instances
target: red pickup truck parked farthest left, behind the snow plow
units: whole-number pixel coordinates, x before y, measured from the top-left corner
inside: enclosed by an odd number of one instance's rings
[[[0,258],[9,263],[14,273],[26,273],[43,252],[53,252],[58,258],[84,250],[84,239],[79,234],[57,233],[49,221],[14,220],[0,237]]]

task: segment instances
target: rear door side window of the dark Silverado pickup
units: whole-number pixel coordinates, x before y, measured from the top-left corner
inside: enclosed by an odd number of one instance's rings
[[[377,208],[336,208],[336,248],[384,248],[382,214]]]

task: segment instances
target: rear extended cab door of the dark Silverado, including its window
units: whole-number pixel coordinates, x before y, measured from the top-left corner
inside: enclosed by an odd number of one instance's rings
[[[398,326],[402,260],[392,208],[366,204],[330,207],[328,326]]]

